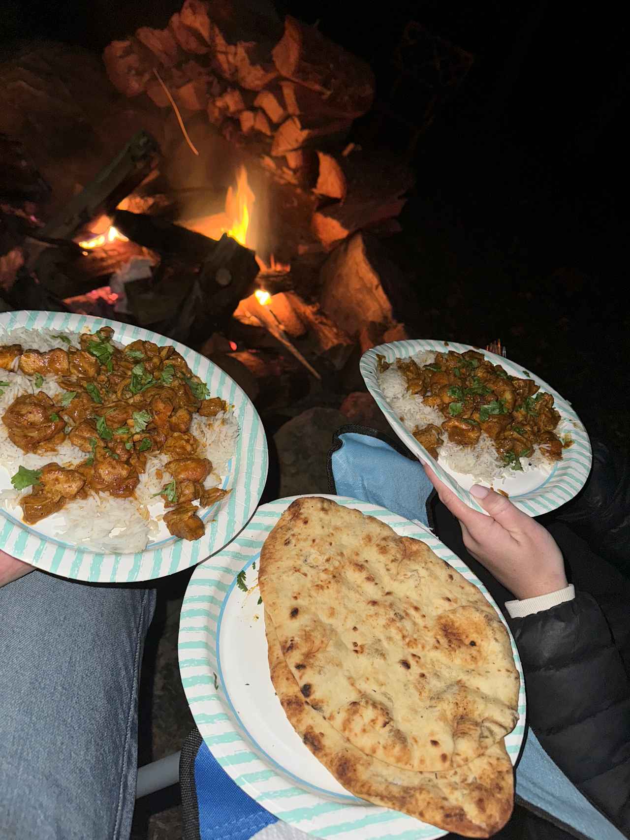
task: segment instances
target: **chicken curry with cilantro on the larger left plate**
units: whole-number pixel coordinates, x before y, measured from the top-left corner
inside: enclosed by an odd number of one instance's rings
[[[167,509],[165,525],[176,537],[198,539],[205,531],[200,507],[228,491],[205,487],[213,465],[202,457],[191,423],[196,412],[215,417],[227,406],[210,397],[175,348],[138,340],[119,349],[112,338],[113,329],[103,327],[81,335],[80,349],[0,347],[0,368],[14,370],[17,362],[36,388],[50,375],[60,388],[53,397],[38,391],[13,401],[2,418],[13,444],[24,453],[52,455],[68,438],[86,454],[71,469],[52,460],[41,470],[20,466],[13,486],[32,487],[20,500],[24,522],[39,522],[90,492],[134,496],[147,459],[159,453],[168,456],[163,469],[171,479],[155,494]]]

